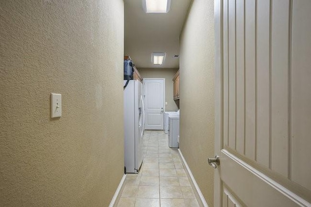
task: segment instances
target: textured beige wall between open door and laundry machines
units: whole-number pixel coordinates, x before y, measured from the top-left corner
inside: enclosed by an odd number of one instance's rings
[[[213,206],[214,6],[193,0],[180,36],[180,149],[207,204]]]

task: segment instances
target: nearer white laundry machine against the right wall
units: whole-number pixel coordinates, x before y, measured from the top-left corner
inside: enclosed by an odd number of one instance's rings
[[[170,128],[168,133],[169,147],[178,147],[179,137],[179,114],[169,115]]]

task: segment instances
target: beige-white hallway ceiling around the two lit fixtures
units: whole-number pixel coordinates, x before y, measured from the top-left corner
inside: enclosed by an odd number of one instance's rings
[[[179,35],[191,0],[171,0],[167,14],[146,14],[142,0],[124,0],[124,55],[137,68],[179,68]],[[163,65],[154,66],[152,52],[166,52]]]

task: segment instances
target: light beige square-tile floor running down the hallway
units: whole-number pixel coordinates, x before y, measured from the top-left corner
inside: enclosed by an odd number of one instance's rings
[[[146,130],[138,174],[126,175],[118,207],[199,207],[177,149],[163,131]]]

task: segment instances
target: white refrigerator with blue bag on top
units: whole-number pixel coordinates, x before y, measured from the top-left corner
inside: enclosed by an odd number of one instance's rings
[[[126,81],[124,81],[125,85]],[[144,100],[142,83],[130,80],[124,89],[124,166],[138,173],[143,159]]]

